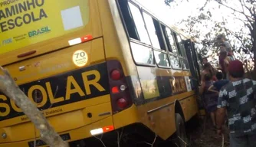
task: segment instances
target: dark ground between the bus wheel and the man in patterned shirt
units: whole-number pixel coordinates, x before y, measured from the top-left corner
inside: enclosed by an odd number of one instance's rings
[[[200,123],[189,124],[187,126],[187,132],[189,134],[190,147],[228,147],[228,129],[225,128],[224,139],[222,136],[218,136],[214,129],[210,118],[207,119],[204,127],[203,119],[197,121]],[[205,128],[205,129],[204,129]]]

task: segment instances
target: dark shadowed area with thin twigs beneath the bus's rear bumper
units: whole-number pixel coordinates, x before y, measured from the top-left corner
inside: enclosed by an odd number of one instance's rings
[[[80,139],[69,142],[70,146],[97,146],[97,147],[129,147],[129,146],[148,146],[145,142],[152,143],[155,134],[146,128],[142,123],[133,123],[111,132],[106,132],[98,136],[87,139]],[[159,138],[157,138],[159,139]]]

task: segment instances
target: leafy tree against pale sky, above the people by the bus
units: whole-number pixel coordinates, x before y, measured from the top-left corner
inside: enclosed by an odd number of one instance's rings
[[[171,5],[172,0],[165,0],[166,5]],[[176,1],[180,2],[180,1]],[[228,18],[223,18],[222,21],[214,21],[212,15],[215,9],[210,5],[218,4],[218,8],[226,8],[231,11],[229,19],[233,18],[236,24],[241,24],[237,29],[227,28]],[[243,60],[245,69],[250,71],[254,67],[256,61],[256,1],[255,0],[205,0],[202,7],[199,8],[200,13],[195,16],[190,16],[187,19],[178,23],[182,26],[182,31],[192,36],[197,44],[199,54],[202,56],[211,56],[214,62],[218,61],[216,57],[218,46],[215,42],[215,37],[218,34],[225,34],[230,41],[236,57]],[[220,16],[222,17],[222,16]],[[209,26],[212,24],[211,26]],[[202,31],[202,28],[209,28],[208,31]],[[255,74],[254,73],[254,74]]]

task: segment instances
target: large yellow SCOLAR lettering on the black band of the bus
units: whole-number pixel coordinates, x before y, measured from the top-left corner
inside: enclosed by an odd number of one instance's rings
[[[94,77],[94,78],[92,78]],[[90,96],[90,94],[92,94],[91,92],[91,88],[93,87],[94,90],[97,90],[98,92],[103,92],[106,91],[102,85],[100,85],[99,81],[100,81],[100,72],[98,70],[89,70],[86,71],[84,73],[80,73],[80,77],[77,77],[79,79],[82,80],[76,80],[74,78],[74,76],[68,76],[67,80],[66,80],[66,85],[62,86],[62,87],[66,87],[65,88],[65,93],[61,93],[61,96],[59,95],[59,97],[55,97],[54,93],[56,92],[56,90],[54,91],[51,87],[51,81],[45,82],[41,85],[33,85],[31,87],[28,87],[28,90],[26,94],[28,95],[28,98],[31,101],[37,101],[34,100],[36,99],[33,96],[33,92],[34,90],[38,90],[41,93],[41,101],[39,103],[36,103],[38,107],[43,108],[48,102],[51,103],[51,105],[53,104],[57,104],[57,103],[64,103],[65,101],[70,101],[72,99],[73,94],[75,94],[75,96],[80,96],[83,97],[82,100],[86,100],[87,96]],[[72,102],[76,101],[77,98],[74,100],[74,96],[73,96],[73,100],[71,100]],[[80,99],[81,100],[81,99]],[[15,112],[21,112],[21,109],[18,108],[18,106],[15,105],[15,103],[11,100],[11,103],[7,103],[8,98],[5,95],[0,95],[0,116],[8,116],[11,111],[15,111]],[[78,101],[78,100],[77,100]],[[52,112],[48,112],[48,114],[51,113],[57,113],[57,112],[61,112],[62,109],[57,109],[54,110]]]

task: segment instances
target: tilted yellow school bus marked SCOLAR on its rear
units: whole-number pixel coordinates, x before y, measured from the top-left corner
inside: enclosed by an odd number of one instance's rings
[[[198,111],[192,40],[135,1],[0,0],[0,64],[71,146],[182,144]],[[0,133],[47,146],[4,94]]]

